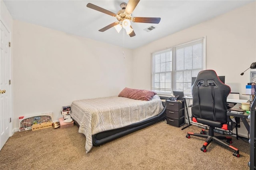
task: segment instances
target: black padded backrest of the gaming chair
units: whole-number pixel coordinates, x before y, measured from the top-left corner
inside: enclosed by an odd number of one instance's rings
[[[214,70],[200,71],[192,86],[192,115],[206,123],[226,123],[229,93],[230,87],[220,81]]]

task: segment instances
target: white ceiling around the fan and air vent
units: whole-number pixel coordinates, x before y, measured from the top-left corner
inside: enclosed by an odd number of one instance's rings
[[[15,20],[134,49],[252,1],[255,0],[140,0],[132,16],[160,17],[161,21],[131,23],[136,34],[132,38],[122,31],[118,34],[114,27],[99,32],[116,18],[86,7],[92,3],[116,13],[120,4],[128,0],[4,0],[4,4]],[[151,25],[157,28],[144,31]]]

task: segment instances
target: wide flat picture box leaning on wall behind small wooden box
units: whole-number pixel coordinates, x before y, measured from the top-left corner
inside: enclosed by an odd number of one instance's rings
[[[52,112],[19,117],[19,131],[31,130],[32,125],[52,122]]]

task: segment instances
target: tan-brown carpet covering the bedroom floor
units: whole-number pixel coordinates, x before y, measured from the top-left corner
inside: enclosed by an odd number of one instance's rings
[[[86,154],[85,136],[78,127],[46,128],[15,132],[0,151],[1,170],[249,170],[249,143],[232,137],[240,157],[216,143],[207,152],[203,138],[165,122],[156,123],[101,146]]]

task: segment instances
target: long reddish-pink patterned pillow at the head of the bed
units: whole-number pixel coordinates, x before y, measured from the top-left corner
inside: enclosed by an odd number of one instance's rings
[[[135,100],[144,100],[149,101],[152,97],[156,95],[156,92],[149,90],[140,90],[140,89],[129,89],[125,87],[120,93],[119,97],[126,97]]]

